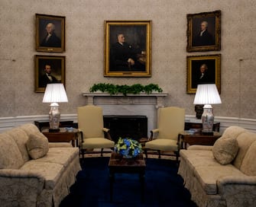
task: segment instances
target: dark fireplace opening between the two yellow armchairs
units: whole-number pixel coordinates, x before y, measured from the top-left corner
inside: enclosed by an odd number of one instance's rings
[[[104,127],[110,129],[112,140],[118,142],[119,137],[135,140],[147,138],[147,116],[103,116]]]

